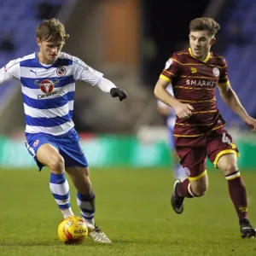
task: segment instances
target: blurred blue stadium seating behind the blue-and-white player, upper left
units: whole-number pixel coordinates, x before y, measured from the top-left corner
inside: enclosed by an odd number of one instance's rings
[[[14,49],[4,51],[0,49],[0,67],[3,67],[10,60],[28,55],[32,51],[37,50],[35,40],[35,29],[38,26],[38,5],[48,3],[52,5],[53,10],[56,7],[71,3],[73,0],[9,0],[1,1],[0,3],[0,43],[5,35],[11,35],[12,44]],[[55,15],[55,12],[52,12]],[[53,17],[53,16],[52,16]],[[27,40],[29,38],[29,40]],[[0,93],[0,113],[8,100],[15,94],[17,86],[13,82],[3,84]]]

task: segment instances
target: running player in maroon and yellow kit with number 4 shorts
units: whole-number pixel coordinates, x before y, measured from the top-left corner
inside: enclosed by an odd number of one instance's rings
[[[247,218],[247,194],[237,166],[239,151],[216,105],[215,88],[224,102],[256,131],[256,120],[242,107],[232,90],[224,57],[211,51],[220,26],[212,18],[197,18],[189,24],[189,49],[176,52],[154,88],[155,96],[174,108],[175,147],[188,176],[174,183],[172,208],[183,212],[184,198],[202,196],[208,187],[207,157],[224,173],[230,198],[239,218],[241,237],[255,237]],[[174,96],[166,91],[172,82]]]

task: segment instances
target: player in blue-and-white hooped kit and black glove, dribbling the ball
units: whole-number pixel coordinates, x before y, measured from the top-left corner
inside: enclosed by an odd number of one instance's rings
[[[36,34],[40,51],[9,61],[0,70],[0,84],[9,79],[21,82],[26,148],[37,161],[39,170],[49,166],[49,189],[63,217],[74,215],[66,171],[78,191],[77,202],[89,236],[94,241],[111,242],[94,221],[95,195],[72,120],[75,81],[83,80],[119,97],[119,101],[127,95],[79,58],[61,52],[68,35],[59,20],[44,20]]]

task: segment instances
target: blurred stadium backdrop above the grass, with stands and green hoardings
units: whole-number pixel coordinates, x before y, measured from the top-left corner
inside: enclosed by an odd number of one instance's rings
[[[79,56],[127,91],[128,100],[119,102],[89,84],[77,83],[73,120],[90,166],[170,165],[154,84],[172,52],[188,47],[189,21],[195,17],[210,16],[220,23],[212,50],[225,56],[233,88],[247,112],[256,116],[253,1],[9,0],[0,5],[1,67],[37,51],[38,23],[56,17],[70,34],[63,51]],[[218,108],[236,143],[246,150],[241,165],[254,167],[255,137],[219,96]],[[26,149],[21,149],[25,125],[19,83],[1,87],[0,117],[0,165],[32,166]]]

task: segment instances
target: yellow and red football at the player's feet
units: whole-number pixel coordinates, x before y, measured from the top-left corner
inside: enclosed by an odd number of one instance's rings
[[[58,227],[58,236],[65,244],[79,244],[88,236],[88,229],[82,218],[63,218]]]

